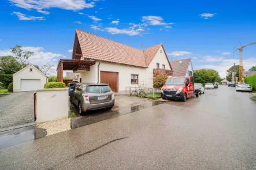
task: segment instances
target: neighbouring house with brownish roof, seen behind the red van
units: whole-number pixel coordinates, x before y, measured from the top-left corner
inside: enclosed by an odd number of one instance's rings
[[[190,58],[170,62],[170,65],[173,69],[173,77],[194,75],[194,70]]]

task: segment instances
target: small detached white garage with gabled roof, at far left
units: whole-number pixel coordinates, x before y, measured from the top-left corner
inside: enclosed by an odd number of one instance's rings
[[[48,77],[33,65],[24,67],[13,74],[13,92],[24,92],[43,89]]]

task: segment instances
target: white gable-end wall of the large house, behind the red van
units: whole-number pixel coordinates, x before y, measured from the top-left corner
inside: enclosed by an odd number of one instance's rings
[[[162,51],[162,52],[161,52]],[[153,69],[157,69],[157,63],[159,63],[159,68],[162,69],[162,65],[165,65],[166,70],[171,70],[169,62],[166,58],[164,49],[162,46],[157,51],[157,54],[155,54],[155,57],[151,61],[149,68],[147,68],[147,87],[153,88]]]

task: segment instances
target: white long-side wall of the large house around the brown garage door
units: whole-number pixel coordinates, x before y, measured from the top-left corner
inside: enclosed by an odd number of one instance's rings
[[[98,81],[98,64],[97,61],[94,66],[90,67],[90,71],[81,73],[82,82],[97,82]],[[144,81],[147,86],[146,68],[121,65],[117,63],[101,62],[99,65],[99,82],[101,82],[101,71],[110,71],[118,73],[118,92],[124,93],[125,86],[135,87],[136,84],[131,84],[131,74],[139,75],[139,82]]]

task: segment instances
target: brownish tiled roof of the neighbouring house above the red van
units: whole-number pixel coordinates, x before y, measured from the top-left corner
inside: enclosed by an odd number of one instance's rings
[[[185,76],[188,70],[188,64],[190,63],[191,59],[181,59],[181,60],[176,60],[173,62],[170,62],[170,65],[172,66],[173,69],[173,77],[177,76]]]

